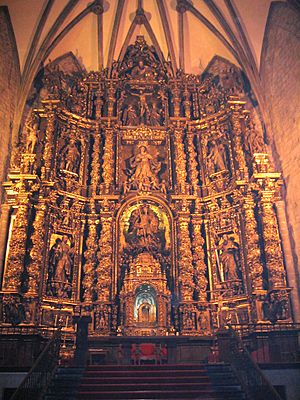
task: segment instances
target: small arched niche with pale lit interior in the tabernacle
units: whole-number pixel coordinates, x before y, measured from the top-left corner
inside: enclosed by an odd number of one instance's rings
[[[157,302],[155,289],[142,284],[136,289],[134,320],[141,325],[157,323]]]

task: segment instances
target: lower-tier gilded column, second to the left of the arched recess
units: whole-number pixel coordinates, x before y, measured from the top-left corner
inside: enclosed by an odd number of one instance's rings
[[[84,277],[82,287],[84,290],[83,300],[85,303],[91,304],[95,292],[95,267],[97,254],[97,221],[93,212],[88,220],[88,237],[86,240],[86,250],[84,252],[85,264],[83,266]]]

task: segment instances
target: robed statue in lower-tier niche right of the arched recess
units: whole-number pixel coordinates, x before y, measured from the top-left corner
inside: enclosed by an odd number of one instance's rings
[[[224,281],[239,280],[239,245],[232,236],[223,235],[217,249],[220,251],[219,265],[221,279]]]

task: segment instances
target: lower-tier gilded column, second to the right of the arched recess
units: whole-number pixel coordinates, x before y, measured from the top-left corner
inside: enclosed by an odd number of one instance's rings
[[[204,239],[201,234],[202,218],[201,215],[192,216],[193,225],[193,261],[195,266],[195,289],[200,301],[206,301],[207,295],[207,277],[206,264],[204,262],[205,254],[203,250]]]

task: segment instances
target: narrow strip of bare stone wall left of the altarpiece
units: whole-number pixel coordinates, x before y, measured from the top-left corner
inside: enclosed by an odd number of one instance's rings
[[[19,60],[8,9],[0,7],[0,185],[9,165],[19,80]],[[1,187],[0,204],[2,196]]]

